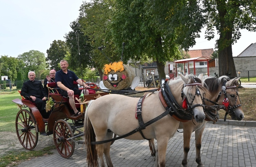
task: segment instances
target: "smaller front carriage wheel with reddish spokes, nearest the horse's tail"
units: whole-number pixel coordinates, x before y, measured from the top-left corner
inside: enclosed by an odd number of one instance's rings
[[[71,157],[75,150],[74,140],[67,140],[70,137],[74,137],[74,133],[68,122],[57,120],[53,127],[53,139],[56,149],[64,158]]]

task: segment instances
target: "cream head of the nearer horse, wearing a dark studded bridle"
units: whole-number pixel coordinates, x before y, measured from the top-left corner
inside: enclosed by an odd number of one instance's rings
[[[185,82],[182,96],[183,96],[183,108],[187,105],[187,110],[190,110],[194,114],[194,119],[201,123],[205,119],[205,114],[203,111],[204,102],[203,95],[208,95],[209,91],[202,86],[202,81],[193,75],[180,77]],[[185,102],[186,101],[186,102]],[[186,103],[184,105],[184,103]]]

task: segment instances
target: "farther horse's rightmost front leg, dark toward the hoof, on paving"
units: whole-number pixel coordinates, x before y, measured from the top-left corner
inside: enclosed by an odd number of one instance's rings
[[[201,145],[202,145],[202,135],[205,126],[201,129],[195,131],[196,135],[196,162],[198,164],[197,167],[204,167],[203,163],[201,162]]]

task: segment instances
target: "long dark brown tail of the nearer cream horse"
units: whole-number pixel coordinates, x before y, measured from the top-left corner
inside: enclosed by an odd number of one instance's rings
[[[96,145],[91,145],[92,141],[96,141],[96,135],[93,129],[93,125],[88,117],[88,110],[94,100],[91,100],[89,105],[86,107],[85,118],[84,118],[84,136],[85,143],[87,146],[87,164],[88,166],[98,167],[98,154],[96,151]]]

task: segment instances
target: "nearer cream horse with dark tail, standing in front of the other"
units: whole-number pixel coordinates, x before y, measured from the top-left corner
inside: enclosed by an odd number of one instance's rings
[[[180,79],[168,82],[167,84],[171,89],[174,100],[176,100],[179,106],[182,105],[183,99],[181,97],[181,91],[183,90],[182,92],[186,100],[190,102],[189,108],[191,109],[195,121],[201,123],[205,119],[201,95],[208,96],[209,92],[205,87],[200,85],[200,80],[198,83],[198,80],[196,81],[195,78],[191,76],[182,76]],[[168,111],[163,107],[158,96],[158,92],[152,93],[150,96],[146,96],[142,102],[141,115],[143,121],[146,122],[145,124]],[[100,165],[104,167],[103,153],[108,167],[113,166],[110,158],[111,142],[108,142],[112,139],[113,133],[119,137],[125,136],[124,138],[130,140],[156,138],[158,143],[158,151],[156,153],[158,161],[155,162],[155,166],[165,166],[168,141],[176,133],[180,122],[170,114],[167,114],[161,117],[161,120],[155,121],[140,130],[141,133],[139,130],[133,131],[137,130],[141,123],[136,119],[137,103],[141,103],[141,101],[139,101],[140,99],[141,98],[110,94],[89,102],[84,120],[88,166],[99,166],[99,157]],[[131,135],[125,135],[129,133],[131,133]],[[108,143],[101,143],[100,141],[102,140]]]

